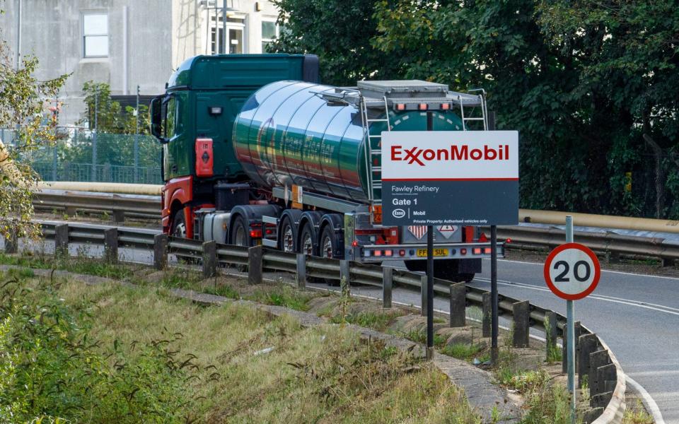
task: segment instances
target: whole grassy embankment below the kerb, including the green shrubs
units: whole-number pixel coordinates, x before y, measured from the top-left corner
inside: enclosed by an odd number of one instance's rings
[[[27,271],[0,285],[1,422],[478,422],[439,371],[341,326]]]

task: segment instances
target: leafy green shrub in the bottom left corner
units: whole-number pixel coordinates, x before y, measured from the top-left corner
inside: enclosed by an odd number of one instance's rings
[[[88,331],[88,308],[69,308],[49,285],[12,278],[0,293],[0,422],[180,423],[193,399],[192,355],[180,334],[106,349]],[[107,353],[108,354],[105,354]]]

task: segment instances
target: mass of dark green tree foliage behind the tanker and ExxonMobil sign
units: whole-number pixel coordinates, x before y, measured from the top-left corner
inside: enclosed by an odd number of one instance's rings
[[[675,2],[373,0],[335,18],[317,3],[278,1],[279,51],[318,52],[341,70],[330,83],[484,88],[498,129],[520,134],[521,206],[679,217]]]

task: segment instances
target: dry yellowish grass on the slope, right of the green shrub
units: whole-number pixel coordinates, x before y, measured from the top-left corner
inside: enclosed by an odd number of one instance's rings
[[[479,422],[441,372],[349,329],[304,329],[245,305],[199,307],[163,289],[67,281],[59,295],[90,310],[102,346],[127,355],[180,334],[170,348],[199,365],[186,389],[201,400],[187,415],[208,423]]]

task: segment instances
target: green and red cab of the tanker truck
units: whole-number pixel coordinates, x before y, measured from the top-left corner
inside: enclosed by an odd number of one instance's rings
[[[151,100],[151,133],[163,143],[163,230],[177,221],[192,237],[191,208],[214,203],[218,180],[247,179],[236,160],[232,128],[245,100],[274,81],[318,82],[311,54],[220,54],[187,59],[170,76],[166,93]],[[197,175],[197,140],[211,140],[212,171]],[[199,158],[199,162],[202,161]],[[175,225],[176,226],[176,225]]]

